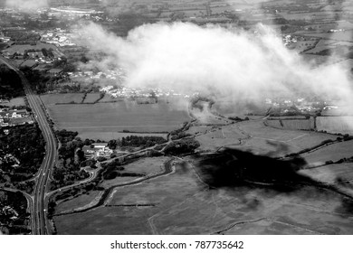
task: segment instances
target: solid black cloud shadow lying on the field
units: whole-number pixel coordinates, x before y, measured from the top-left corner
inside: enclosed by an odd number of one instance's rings
[[[281,192],[291,192],[302,183],[314,183],[298,171],[306,164],[301,157],[286,161],[267,155],[224,148],[204,157],[197,168],[210,187],[236,187],[248,183],[271,186]]]

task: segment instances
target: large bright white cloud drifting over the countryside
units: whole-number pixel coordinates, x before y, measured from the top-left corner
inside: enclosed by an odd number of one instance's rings
[[[127,38],[93,23],[84,29],[91,35],[91,49],[107,53],[101,62],[124,68],[125,85],[131,87],[201,92],[238,108],[268,97],[314,94],[349,102],[353,95],[339,66],[312,69],[263,25],[254,34],[215,25],[155,23],[139,26]]]

